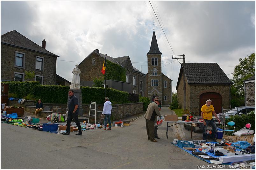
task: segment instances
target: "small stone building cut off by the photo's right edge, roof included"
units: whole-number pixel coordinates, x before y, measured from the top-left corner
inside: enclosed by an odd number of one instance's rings
[[[245,106],[255,107],[255,75],[244,81]]]

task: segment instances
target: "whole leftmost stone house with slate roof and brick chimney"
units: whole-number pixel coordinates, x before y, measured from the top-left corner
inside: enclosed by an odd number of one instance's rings
[[[25,71],[35,71],[33,80],[55,85],[59,57],[37,45],[16,30],[1,35],[1,81],[24,81]]]

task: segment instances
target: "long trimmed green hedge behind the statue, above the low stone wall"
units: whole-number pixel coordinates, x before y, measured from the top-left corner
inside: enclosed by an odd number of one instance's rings
[[[40,85],[39,82],[8,82],[9,93],[17,94],[18,98],[26,98],[37,101],[41,99],[43,103],[66,104],[68,102],[69,86],[62,85]],[[104,104],[105,90],[102,87],[81,87],[82,103]],[[106,88],[106,96],[113,104],[132,103],[131,95],[128,92]]]

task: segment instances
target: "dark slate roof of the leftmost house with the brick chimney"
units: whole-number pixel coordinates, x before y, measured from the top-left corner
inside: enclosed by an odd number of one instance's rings
[[[33,41],[31,41],[28,38],[26,38],[25,36],[21,35],[16,30],[13,30],[13,31],[10,31],[8,33],[5,33],[4,35],[1,35],[1,43],[16,46],[16,47],[21,47],[21,48],[25,48],[25,49],[29,49],[29,50],[32,50],[32,51],[37,51],[39,53],[49,54],[49,55],[52,55],[52,56],[55,56],[55,57],[59,57],[58,55],[47,51],[43,47],[37,45]]]

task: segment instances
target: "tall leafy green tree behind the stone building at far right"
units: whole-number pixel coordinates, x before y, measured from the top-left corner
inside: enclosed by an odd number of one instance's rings
[[[233,74],[233,85],[231,85],[231,107],[244,105],[244,80],[255,74],[255,53],[244,59],[239,59]]]

